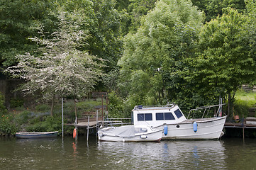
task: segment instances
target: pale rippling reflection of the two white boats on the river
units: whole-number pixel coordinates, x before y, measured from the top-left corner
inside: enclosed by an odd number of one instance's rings
[[[220,141],[99,142],[98,149],[108,155],[109,166],[127,169],[219,169],[226,158]]]

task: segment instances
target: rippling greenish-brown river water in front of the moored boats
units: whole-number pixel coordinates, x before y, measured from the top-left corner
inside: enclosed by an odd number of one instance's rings
[[[256,169],[256,139],[99,142],[0,137],[0,169]]]

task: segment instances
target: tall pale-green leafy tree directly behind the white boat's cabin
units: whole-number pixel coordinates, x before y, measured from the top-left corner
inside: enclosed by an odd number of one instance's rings
[[[138,32],[125,38],[120,88],[130,102],[173,101],[183,81],[184,58],[194,49],[202,16],[191,1],[162,0],[145,16]],[[163,101],[165,100],[165,101]]]

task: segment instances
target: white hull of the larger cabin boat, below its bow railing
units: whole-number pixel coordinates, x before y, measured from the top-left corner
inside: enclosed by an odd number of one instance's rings
[[[185,120],[182,123],[167,124],[167,135],[162,140],[214,140],[223,135],[226,116],[220,118],[202,118]],[[194,129],[196,122],[196,131]]]

